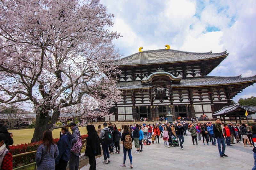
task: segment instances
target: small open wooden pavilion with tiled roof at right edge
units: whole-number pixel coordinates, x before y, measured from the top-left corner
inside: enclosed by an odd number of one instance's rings
[[[242,106],[240,104],[233,104],[223,107],[216,111],[212,116],[219,117],[221,121],[235,120],[236,123],[241,120],[246,120],[245,112],[248,112],[248,117],[253,117],[256,113],[256,106]],[[252,116],[253,115],[253,116]]]

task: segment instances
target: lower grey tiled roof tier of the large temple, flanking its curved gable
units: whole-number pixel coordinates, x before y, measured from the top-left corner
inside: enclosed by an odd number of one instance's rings
[[[217,77],[205,76],[198,78],[181,79],[180,83],[173,83],[172,87],[200,87],[200,86],[218,86],[228,84],[243,84],[248,82],[256,82],[256,76],[253,77]],[[150,85],[142,85],[141,81],[121,81],[116,83],[117,89],[147,89]]]

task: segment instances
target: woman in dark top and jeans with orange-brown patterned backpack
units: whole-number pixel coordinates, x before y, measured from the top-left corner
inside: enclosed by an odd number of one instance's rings
[[[134,138],[132,136],[132,133],[127,125],[124,125],[124,132],[122,133],[121,141],[123,141],[123,151],[124,151],[124,161],[123,164],[120,166],[126,167],[125,161],[126,161],[126,152],[128,152],[128,156],[130,159],[130,168],[133,168],[132,166],[132,142]]]

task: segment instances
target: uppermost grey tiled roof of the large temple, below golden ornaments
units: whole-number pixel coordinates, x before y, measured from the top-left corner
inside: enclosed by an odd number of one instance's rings
[[[115,62],[117,66],[149,65],[158,63],[175,63],[196,60],[207,60],[227,56],[226,51],[221,53],[194,53],[172,49],[148,50],[132,54]]]

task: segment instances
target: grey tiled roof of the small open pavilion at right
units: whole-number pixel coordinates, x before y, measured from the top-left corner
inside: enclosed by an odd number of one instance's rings
[[[223,107],[222,109],[216,111],[212,116],[219,116],[223,114],[228,114],[234,110],[236,110],[238,107],[250,111],[252,113],[256,113],[256,106],[242,106],[240,104],[233,104],[230,106]]]

